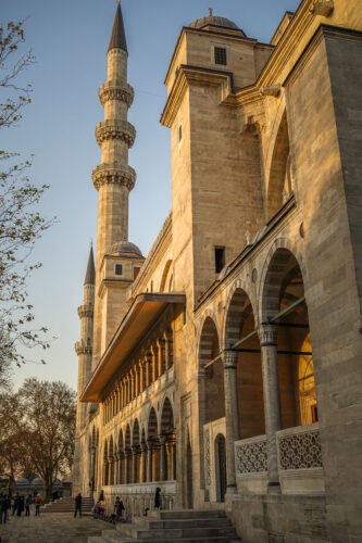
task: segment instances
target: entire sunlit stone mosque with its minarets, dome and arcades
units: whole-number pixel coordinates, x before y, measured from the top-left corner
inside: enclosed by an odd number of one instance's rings
[[[362,541],[361,29],[357,0],[302,0],[270,43],[212,10],[180,29],[172,211],[145,257],[118,3],[74,493],[134,517],[160,487],[165,509],[225,510],[245,542]]]

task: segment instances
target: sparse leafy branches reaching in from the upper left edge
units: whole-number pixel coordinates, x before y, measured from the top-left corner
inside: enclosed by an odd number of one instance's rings
[[[7,97],[0,103],[2,129],[17,124],[24,106],[32,102],[32,86],[17,84],[35,60],[32,51],[21,53],[24,41],[24,21],[0,25],[0,89]],[[25,362],[24,346],[49,346],[47,328],[33,328],[33,306],[26,292],[29,274],[41,266],[29,263],[29,255],[53,223],[38,211],[48,186],[37,187],[29,180],[30,165],[17,153],[0,150],[0,381],[5,383],[9,367]]]

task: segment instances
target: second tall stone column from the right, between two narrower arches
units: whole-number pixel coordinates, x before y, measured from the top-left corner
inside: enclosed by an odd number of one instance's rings
[[[226,492],[236,492],[235,446],[239,439],[239,416],[236,369],[238,362],[237,351],[224,352],[224,393],[225,393],[225,424],[226,424]]]

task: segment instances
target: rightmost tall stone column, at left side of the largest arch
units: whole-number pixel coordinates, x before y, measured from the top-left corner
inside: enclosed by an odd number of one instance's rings
[[[280,492],[277,463],[276,432],[282,429],[282,411],[276,349],[277,325],[263,324],[259,328],[262,355],[265,433],[269,470],[269,492]]]

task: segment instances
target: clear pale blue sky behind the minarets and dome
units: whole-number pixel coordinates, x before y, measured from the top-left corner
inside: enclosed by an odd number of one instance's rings
[[[234,21],[248,37],[269,42],[285,11],[299,0],[122,0],[128,46],[128,83],[135,101],[128,121],[137,138],[129,165],[137,184],[129,199],[129,241],[146,256],[171,211],[171,146],[161,126],[165,104],[164,77],[183,26],[214,15]],[[28,282],[36,326],[57,338],[51,349],[26,353],[28,362],[14,371],[17,388],[27,377],[77,381],[74,343],[79,339],[77,307],[90,239],[96,241],[97,199],[91,172],[100,163],[95,127],[103,119],[98,100],[105,81],[107,49],[115,0],[0,0],[0,21],[25,25],[24,52],[36,64],[24,74],[34,88],[33,102],[17,127],[0,132],[0,149],[34,154],[30,178],[49,184],[40,212],[57,223],[36,244],[34,262],[42,267]],[[47,364],[41,365],[45,357]]]

